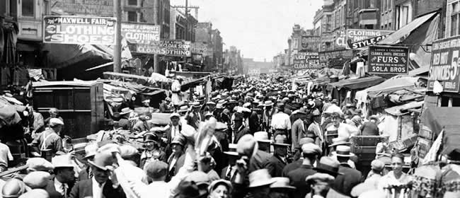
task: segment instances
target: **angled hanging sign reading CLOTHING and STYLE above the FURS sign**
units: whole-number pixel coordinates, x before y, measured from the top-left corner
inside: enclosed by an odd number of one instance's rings
[[[392,30],[368,29],[348,29],[346,32],[345,40],[347,41],[346,48],[348,50],[357,50],[362,47],[374,45],[379,42],[379,40],[394,33]]]

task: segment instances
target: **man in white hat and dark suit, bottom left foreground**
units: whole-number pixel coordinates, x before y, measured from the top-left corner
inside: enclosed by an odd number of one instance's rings
[[[74,164],[69,155],[63,155],[52,158],[52,165],[55,176],[47,183],[45,190],[50,198],[67,198],[75,182]]]

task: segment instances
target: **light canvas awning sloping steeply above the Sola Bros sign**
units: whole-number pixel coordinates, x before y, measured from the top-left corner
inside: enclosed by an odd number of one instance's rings
[[[377,45],[395,45],[398,42],[401,42],[407,35],[410,35],[413,30],[417,29],[420,25],[423,23],[427,22],[430,20],[433,16],[437,15],[437,12],[435,13],[429,13],[425,16],[421,16],[419,18],[415,18],[414,21],[408,23],[407,25],[403,26],[403,28],[400,28],[396,32],[392,33],[388,37],[384,38],[383,40],[380,40],[377,42]]]

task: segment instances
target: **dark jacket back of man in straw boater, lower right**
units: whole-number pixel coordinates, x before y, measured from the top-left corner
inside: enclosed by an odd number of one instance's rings
[[[343,175],[335,177],[333,189],[347,196],[351,196],[350,192],[352,188],[360,184],[362,180],[362,173],[359,170],[350,168],[350,165],[347,163],[340,163],[338,172],[343,173]]]

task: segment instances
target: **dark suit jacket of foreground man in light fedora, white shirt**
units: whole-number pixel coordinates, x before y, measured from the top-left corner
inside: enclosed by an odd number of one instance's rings
[[[126,198],[125,192],[122,187],[118,186],[116,189],[112,186],[112,181],[107,180],[102,190],[104,198]],[[69,198],[85,198],[93,197],[93,180],[83,180],[77,182],[70,192]]]

